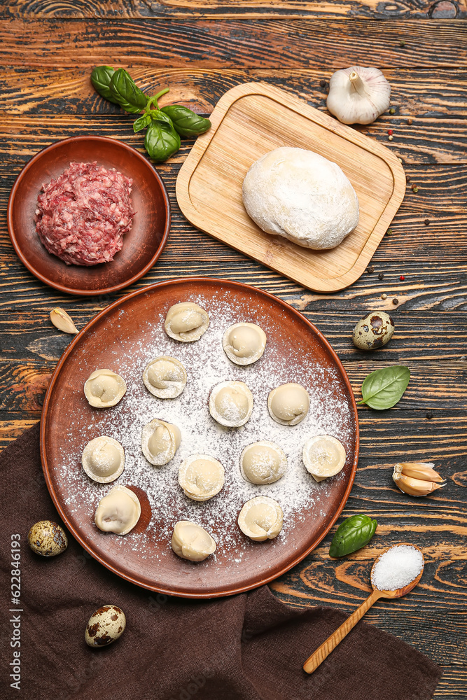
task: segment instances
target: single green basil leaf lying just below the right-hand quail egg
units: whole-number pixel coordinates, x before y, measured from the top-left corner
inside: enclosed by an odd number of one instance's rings
[[[402,365],[370,372],[361,385],[362,400],[359,403],[378,411],[391,408],[402,398],[409,381],[410,370]]]

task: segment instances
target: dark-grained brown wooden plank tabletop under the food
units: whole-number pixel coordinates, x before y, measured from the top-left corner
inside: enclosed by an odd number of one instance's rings
[[[172,202],[172,231],[160,260],[137,286],[201,274],[278,295],[333,344],[357,397],[368,372],[391,363],[410,367],[410,386],[395,408],[358,409],[361,458],[344,515],[376,517],[374,540],[335,561],[328,557],[328,536],[272,589],[291,605],[351,612],[368,595],[377,552],[393,542],[414,542],[426,558],[421,584],[400,601],[380,601],[366,619],[443,666],[437,700],[467,698],[465,1],[29,0],[4,3],[0,17],[4,445],[39,420],[50,373],[69,342],[50,324],[50,309],[64,307],[81,328],[123,295],[85,300],[43,286],[16,258],[6,230],[15,176],[43,146],[74,134],[104,134],[141,149],[130,118],[92,90],[92,66],[129,67],[142,87],[156,92],[169,85],[172,101],[203,114],[225,90],[249,80],[278,85],[324,111],[327,90],[320,80],[333,71],[352,64],[384,71],[395,113],[362,131],[398,155],[419,189],[407,188],[392,235],[372,260],[374,271],[347,290],[319,295],[195,230],[174,193],[193,143],[184,141],[174,158],[158,166]],[[361,353],[351,344],[351,330],[372,309],[390,309],[396,333],[386,348]],[[447,477],[446,488],[431,498],[409,498],[391,480],[393,463],[416,459],[434,461]]]

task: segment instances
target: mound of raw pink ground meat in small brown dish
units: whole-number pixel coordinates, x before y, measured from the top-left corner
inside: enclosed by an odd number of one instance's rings
[[[67,265],[110,262],[132,228],[132,180],[97,163],[70,163],[37,198],[36,231]]]

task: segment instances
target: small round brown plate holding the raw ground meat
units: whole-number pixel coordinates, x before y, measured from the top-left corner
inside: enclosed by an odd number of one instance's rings
[[[41,185],[73,161],[96,161],[133,180],[136,214],[132,229],[123,238],[123,248],[112,262],[92,267],[65,265],[46,251],[36,234],[34,211]],[[134,148],[105,137],[73,137],[44,148],[22,169],[8,200],[8,232],[21,262],[38,279],[69,294],[110,293],[137,281],[162,253],[169,228],[169,197],[151,163]]]

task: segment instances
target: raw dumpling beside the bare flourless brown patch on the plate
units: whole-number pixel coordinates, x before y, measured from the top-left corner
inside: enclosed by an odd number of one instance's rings
[[[139,498],[126,486],[114,486],[99,500],[94,521],[99,530],[127,535],[139,521]]]

